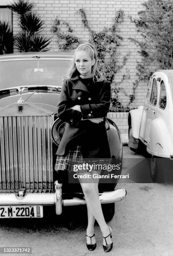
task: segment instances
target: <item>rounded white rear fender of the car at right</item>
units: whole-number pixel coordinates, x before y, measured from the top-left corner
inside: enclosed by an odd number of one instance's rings
[[[163,119],[156,118],[151,122],[149,138],[150,141],[147,143],[149,154],[165,158],[173,155],[173,141]]]

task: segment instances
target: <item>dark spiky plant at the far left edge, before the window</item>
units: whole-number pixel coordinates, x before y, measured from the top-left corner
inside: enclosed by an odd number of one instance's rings
[[[0,21],[0,54],[13,52],[13,32],[6,21]]]

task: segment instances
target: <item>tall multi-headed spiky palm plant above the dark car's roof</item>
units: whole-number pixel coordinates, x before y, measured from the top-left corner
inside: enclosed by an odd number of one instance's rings
[[[51,38],[41,36],[43,21],[39,15],[32,12],[34,5],[26,0],[17,0],[10,7],[19,15],[21,32],[15,37],[15,46],[20,52],[48,51]]]

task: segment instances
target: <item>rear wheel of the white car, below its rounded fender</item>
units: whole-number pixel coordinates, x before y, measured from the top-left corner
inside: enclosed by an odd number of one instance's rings
[[[152,156],[150,158],[150,175],[153,182],[163,182],[163,169],[160,157]]]

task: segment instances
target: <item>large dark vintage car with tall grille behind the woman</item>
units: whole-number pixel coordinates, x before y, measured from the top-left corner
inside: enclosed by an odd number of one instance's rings
[[[66,196],[53,171],[57,104],[71,61],[54,52],[0,56],[0,218],[42,218],[44,206],[55,206],[60,215],[62,206],[85,205],[80,184],[68,184]],[[120,131],[108,118],[106,125],[112,159],[121,163]],[[117,182],[99,184],[106,220],[126,195],[114,190]]]

